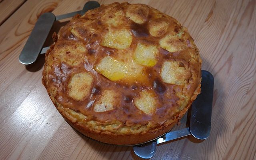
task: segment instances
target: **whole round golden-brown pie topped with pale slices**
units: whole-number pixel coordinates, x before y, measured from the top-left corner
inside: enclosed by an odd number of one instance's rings
[[[65,120],[100,142],[136,145],[168,132],[200,93],[188,30],[144,4],[75,16],[46,53],[42,82]]]

